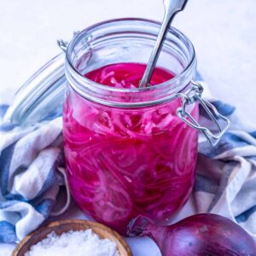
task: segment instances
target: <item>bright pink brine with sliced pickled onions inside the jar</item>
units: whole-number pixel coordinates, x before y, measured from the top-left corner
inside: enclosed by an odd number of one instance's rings
[[[84,76],[106,86],[137,88],[145,67],[112,64]],[[172,78],[157,67],[150,84]],[[180,106],[175,99],[114,108],[68,90],[63,115],[67,177],[84,212],[125,233],[137,215],[165,224],[183,206],[194,183],[197,132],[177,117]],[[197,105],[191,114],[198,119]]]

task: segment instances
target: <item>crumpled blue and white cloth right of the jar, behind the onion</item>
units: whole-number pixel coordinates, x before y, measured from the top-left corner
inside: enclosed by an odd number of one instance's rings
[[[200,136],[196,210],[232,219],[256,241],[256,125],[244,120],[236,108],[214,99],[211,102],[231,125],[214,147]],[[213,127],[202,111],[201,122]]]

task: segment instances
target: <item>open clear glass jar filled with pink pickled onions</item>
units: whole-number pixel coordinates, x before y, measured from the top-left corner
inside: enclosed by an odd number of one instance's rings
[[[188,200],[195,177],[198,132],[177,115],[195,77],[195,50],[169,30],[158,61],[175,77],[124,89],[84,77],[113,63],[147,63],[160,24],[110,20],[79,32],[67,47],[63,135],[67,177],[84,212],[125,233],[143,215],[165,224]],[[198,120],[198,104],[186,112]]]

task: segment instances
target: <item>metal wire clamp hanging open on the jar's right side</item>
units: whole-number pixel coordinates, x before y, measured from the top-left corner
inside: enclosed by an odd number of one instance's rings
[[[212,103],[207,102],[206,100],[201,98],[201,94],[203,92],[203,87],[200,83],[195,83],[192,81],[193,86],[189,90],[187,94],[178,93],[177,96],[183,99],[182,108],[177,108],[177,116],[183,120],[190,127],[201,131],[209,143],[212,146],[215,146],[219,139],[224,135],[225,131],[228,130],[230,126],[230,120],[224,117],[222,114],[218,113],[218,110],[212,105]],[[204,108],[212,119],[213,123],[217,126],[217,133],[212,133],[207,127],[201,126],[195,118],[186,110],[189,104],[194,102],[200,102],[201,107]]]

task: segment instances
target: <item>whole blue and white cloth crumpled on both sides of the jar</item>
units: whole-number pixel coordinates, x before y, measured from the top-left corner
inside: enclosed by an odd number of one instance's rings
[[[200,137],[197,212],[224,215],[256,240],[256,126],[241,122],[230,105],[210,101],[231,126],[217,146]],[[6,108],[0,107],[0,116]],[[214,127],[202,109],[200,122]],[[0,242],[19,241],[53,212],[64,183],[57,171],[63,165],[61,141],[60,116],[23,129],[0,125]]]

